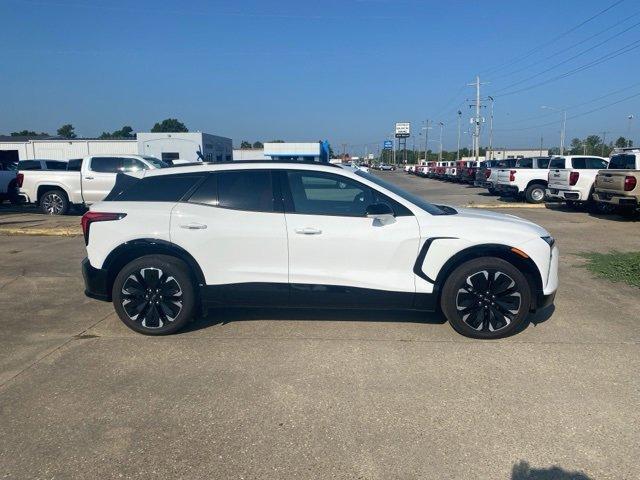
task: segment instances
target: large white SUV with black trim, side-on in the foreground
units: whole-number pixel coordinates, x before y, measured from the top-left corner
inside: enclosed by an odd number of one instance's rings
[[[120,174],[82,226],[85,293],[145,334],[175,332],[213,305],[278,305],[441,308],[458,332],[496,338],[558,286],[542,227],[327,164]]]

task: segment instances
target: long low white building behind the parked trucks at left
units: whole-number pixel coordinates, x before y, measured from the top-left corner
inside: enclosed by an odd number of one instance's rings
[[[163,160],[197,162],[231,161],[230,138],[200,132],[141,132],[137,139],[0,137],[0,160],[68,160],[89,155],[138,154]]]

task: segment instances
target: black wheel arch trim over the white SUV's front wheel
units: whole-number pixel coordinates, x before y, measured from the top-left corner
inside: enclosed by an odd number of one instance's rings
[[[512,247],[508,245],[497,243],[474,245],[472,247],[465,248],[464,250],[461,250],[453,255],[449,260],[445,262],[445,264],[438,272],[438,275],[435,279],[434,287],[434,293],[436,295],[436,301],[438,305],[440,304],[442,287],[444,286],[444,283],[446,282],[447,278],[449,278],[449,275],[453,272],[453,270],[455,270],[463,263],[468,262],[469,260],[480,257],[501,258],[502,260],[505,260],[518,268],[524,274],[527,282],[529,283],[532,302],[533,299],[536,298],[537,293],[542,291],[542,276],[540,275],[538,266],[531,258],[524,258],[517,253],[514,253],[512,251]]]

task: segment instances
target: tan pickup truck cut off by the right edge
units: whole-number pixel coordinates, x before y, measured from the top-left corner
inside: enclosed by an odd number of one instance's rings
[[[593,199],[617,208],[624,215],[640,210],[640,149],[614,154],[606,170],[596,176]]]

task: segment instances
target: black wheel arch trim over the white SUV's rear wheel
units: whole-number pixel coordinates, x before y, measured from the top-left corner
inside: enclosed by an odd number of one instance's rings
[[[189,267],[196,291],[198,290],[198,286],[206,284],[200,265],[185,249],[166,240],[141,238],[130,240],[117,246],[105,259],[102,264],[102,269],[107,272],[107,292],[111,292],[116,276],[127,263],[146,255],[167,255],[175,257],[186,263]]]

